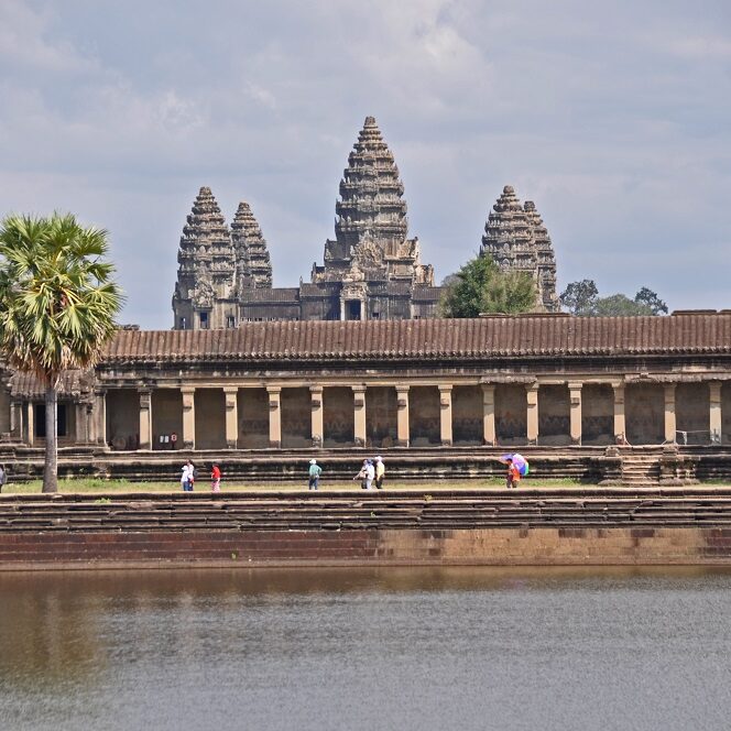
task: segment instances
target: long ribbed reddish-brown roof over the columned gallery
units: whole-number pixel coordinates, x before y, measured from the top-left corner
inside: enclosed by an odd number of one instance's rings
[[[669,317],[244,323],[230,330],[119,331],[103,361],[481,360],[497,357],[731,354],[731,314]]]

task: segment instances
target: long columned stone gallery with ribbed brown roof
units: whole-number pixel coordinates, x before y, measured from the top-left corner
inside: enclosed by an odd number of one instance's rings
[[[37,447],[43,390],[3,379],[3,441]],[[731,314],[120,330],[61,390],[62,446],[105,451],[722,446]]]

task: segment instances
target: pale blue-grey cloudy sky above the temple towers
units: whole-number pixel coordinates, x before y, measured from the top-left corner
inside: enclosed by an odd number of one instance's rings
[[[0,0],[0,214],[106,228],[123,323],[172,326],[203,185],[308,280],[369,114],[437,281],[510,184],[559,291],[731,308],[728,0]]]

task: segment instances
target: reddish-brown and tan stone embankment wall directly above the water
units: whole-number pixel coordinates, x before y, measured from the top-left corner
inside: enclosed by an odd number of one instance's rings
[[[157,531],[0,535],[0,570],[103,566],[731,564],[730,528]]]

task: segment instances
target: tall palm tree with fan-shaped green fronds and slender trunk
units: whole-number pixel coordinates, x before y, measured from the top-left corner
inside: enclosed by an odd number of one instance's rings
[[[122,295],[107,238],[70,214],[9,216],[0,227],[0,353],[45,388],[43,492],[58,489],[61,375],[94,366],[117,329]]]

